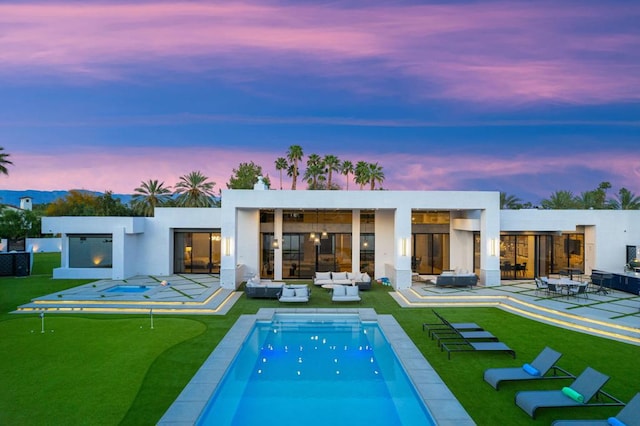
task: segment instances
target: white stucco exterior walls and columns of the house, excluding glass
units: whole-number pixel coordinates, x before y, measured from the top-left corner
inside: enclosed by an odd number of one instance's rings
[[[274,236],[282,244],[282,210],[341,209],[353,211],[353,267],[359,269],[360,210],[374,210],[375,277],[389,277],[396,288],[411,285],[411,213],[448,210],[450,265],[473,269],[473,234],[480,233],[480,282],[500,284],[499,242],[503,232],[567,232],[585,234],[585,266],[617,271],[624,265],[626,245],[640,246],[640,212],[613,210],[500,210],[498,192],[465,191],[223,191],[221,208],[158,208],[155,217],[45,217],[42,230],[61,234],[61,268],[55,278],[128,278],[170,275],[174,271],[174,232],[220,230],[221,285],[236,288],[260,273],[260,209],[275,212]],[[113,268],[70,269],[70,234],[112,234]],[[44,239],[51,240],[51,239]],[[274,277],[282,278],[281,253]]]

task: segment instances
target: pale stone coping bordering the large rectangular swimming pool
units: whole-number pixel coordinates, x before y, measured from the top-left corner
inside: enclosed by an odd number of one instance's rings
[[[241,315],[218,346],[164,413],[158,425],[193,425],[222,380],[240,346],[257,321],[270,321],[276,313],[358,314],[361,321],[377,322],[404,367],[409,379],[437,425],[475,425],[467,411],[392,315],[374,309],[278,309],[262,308],[255,315]]]

